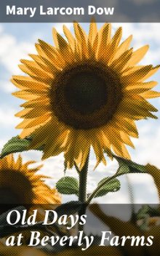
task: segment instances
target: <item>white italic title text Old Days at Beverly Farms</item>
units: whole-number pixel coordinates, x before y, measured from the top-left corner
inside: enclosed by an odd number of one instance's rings
[[[16,209],[13,209],[7,214],[7,223],[9,225],[16,225],[17,223],[21,223],[21,225],[36,225],[36,216],[37,209],[33,210],[33,214],[30,217],[27,217],[27,210],[23,210],[23,215],[20,215],[20,212]],[[51,220],[52,214],[52,220]],[[12,218],[14,215],[14,220]],[[74,228],[76,225],[85,225],[87,223],[87,215],[62,215],[58,216],[57,212],[54,210],[45,210],[44,221],[42,225],[53,225],[57,223],[58,225],[65,225],[67,229],[70,230]],[[118,247],[121,245],[125,246],[126,241],[130,242],[132,247],[150,247],[153,244],[153,236],[113,236],[111,231],[101,231],[101,239],[99,246],[105,246],[106,243],[111,246]],[[79,231],[76,236],[44,236],[41,237],[41,232],[39,231],[31,231],[31,238],[28,244],[28,247],[35,247],[41,245],[42,247],[47,244],[52,244],[54,247],[56,244],[60,244],[60,246],[65,246],[68,244],[69,247],[72,247],[76,242],[81,250],[88,249],[94,243],[95,237],[92,235],[87,236],[84,234],[84,231]],[[7,246],[21,246],[23,244],[23,234],[20,233],[18,236],[9,236],[6,240]]]

